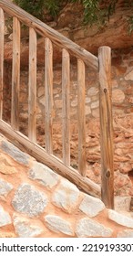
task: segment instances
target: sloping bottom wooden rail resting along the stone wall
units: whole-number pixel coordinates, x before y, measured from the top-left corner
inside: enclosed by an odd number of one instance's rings
[[[0,132],[3,133],[13,144],[36,158],[37,161],[47,165],[56,171],[57,174],[66,177],[77,185],[80,189],[94,197],[100,197],[100,187],[88,179],[78,174],[72,167],[67,167],[54,155],[48,155],[46,150],[38,144],[32,143],[24,134],[16,132],[12,127],[0,120]]]

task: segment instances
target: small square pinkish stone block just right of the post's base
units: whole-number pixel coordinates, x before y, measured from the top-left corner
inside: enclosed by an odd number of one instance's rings
[[[116,211],[129,211],[131,197],[115,197]]]

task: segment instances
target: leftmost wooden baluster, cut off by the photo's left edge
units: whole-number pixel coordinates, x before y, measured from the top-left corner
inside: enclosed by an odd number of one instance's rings
[[[0,119],[3,118],[5,15],[0,8]]]

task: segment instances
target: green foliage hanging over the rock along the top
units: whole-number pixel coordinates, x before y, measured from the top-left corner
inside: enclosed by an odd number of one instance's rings
[[[14,0],[16,5],[25,9],[43,20],[44,9],[51,16],[55,17],[62,7],[63,3],[80,3],[84,7],[84,25],[97,24],[98,27],[105,25],[109,17],[115,12],[118,0]],[[123,0],[124,5],[130,7],[133,5],[132,0]],[[128,18],[129,33],[133,31],[133,16]]]

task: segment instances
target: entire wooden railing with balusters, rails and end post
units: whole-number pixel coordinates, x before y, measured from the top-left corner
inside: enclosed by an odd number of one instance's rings
[[[4,33],[5,13],[13,17],[13,62],[11,125],[3,121]],[[29,27],[28,137],[19,132],[20,91],[20,22]],[[46,149],[36,144],[36,33],[45,40],[45,133]],[[53,155],[53,43],[62,49],[62,123],[63,161]],[[77,58],[78,172],[70,166],[70,58]],[[102,188],[89,180],[86,159],[85,65],[99,71],[101,126]],[[18,6],[0,0],[0,131],[14,144],[35,156],[38,161],[66,176],[78,187],[95,197],[102,195],[108,208],[113,208],[113,139],[110,94],[110,48],[99,48],[98,58],[80,48],[56,30]],[[101,191],[102,193],[101,193]]]

